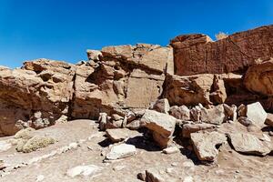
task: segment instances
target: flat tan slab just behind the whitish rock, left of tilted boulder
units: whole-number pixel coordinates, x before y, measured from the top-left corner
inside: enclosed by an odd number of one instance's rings
[[[139,132],[127,128],[106,129],[106,135],[112,142],[121,142],[128,137],[142,136]]]

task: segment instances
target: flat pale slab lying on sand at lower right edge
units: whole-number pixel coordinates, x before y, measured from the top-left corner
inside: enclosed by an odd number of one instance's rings
[[[237,133],[229,134],[230,142],[234,149],[248,155],[266,156],[271,152],[270,143],[261,141],[257,136]]]

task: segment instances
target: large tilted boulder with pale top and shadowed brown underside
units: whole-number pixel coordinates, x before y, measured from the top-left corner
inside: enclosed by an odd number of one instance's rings
[[[175,131],[177,119],[173,116],[147,109],[141,121],[144,122],[143,126],[153,131],[157,144],[160,147],[167,147]]]

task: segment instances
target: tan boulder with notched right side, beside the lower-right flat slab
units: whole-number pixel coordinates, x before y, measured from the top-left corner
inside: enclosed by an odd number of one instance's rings
[[[214,161],[217,159],[217,145],[222,145],[227,141],[224,134],[213,132],[190,134],[194,150],[199,160]]]

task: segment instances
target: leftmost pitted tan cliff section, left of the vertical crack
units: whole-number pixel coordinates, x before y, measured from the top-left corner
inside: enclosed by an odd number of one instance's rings
[[[0,136],[26,126],[50,126],[68,115],[76,66],[38,59],[19,69],[0,69]]]

